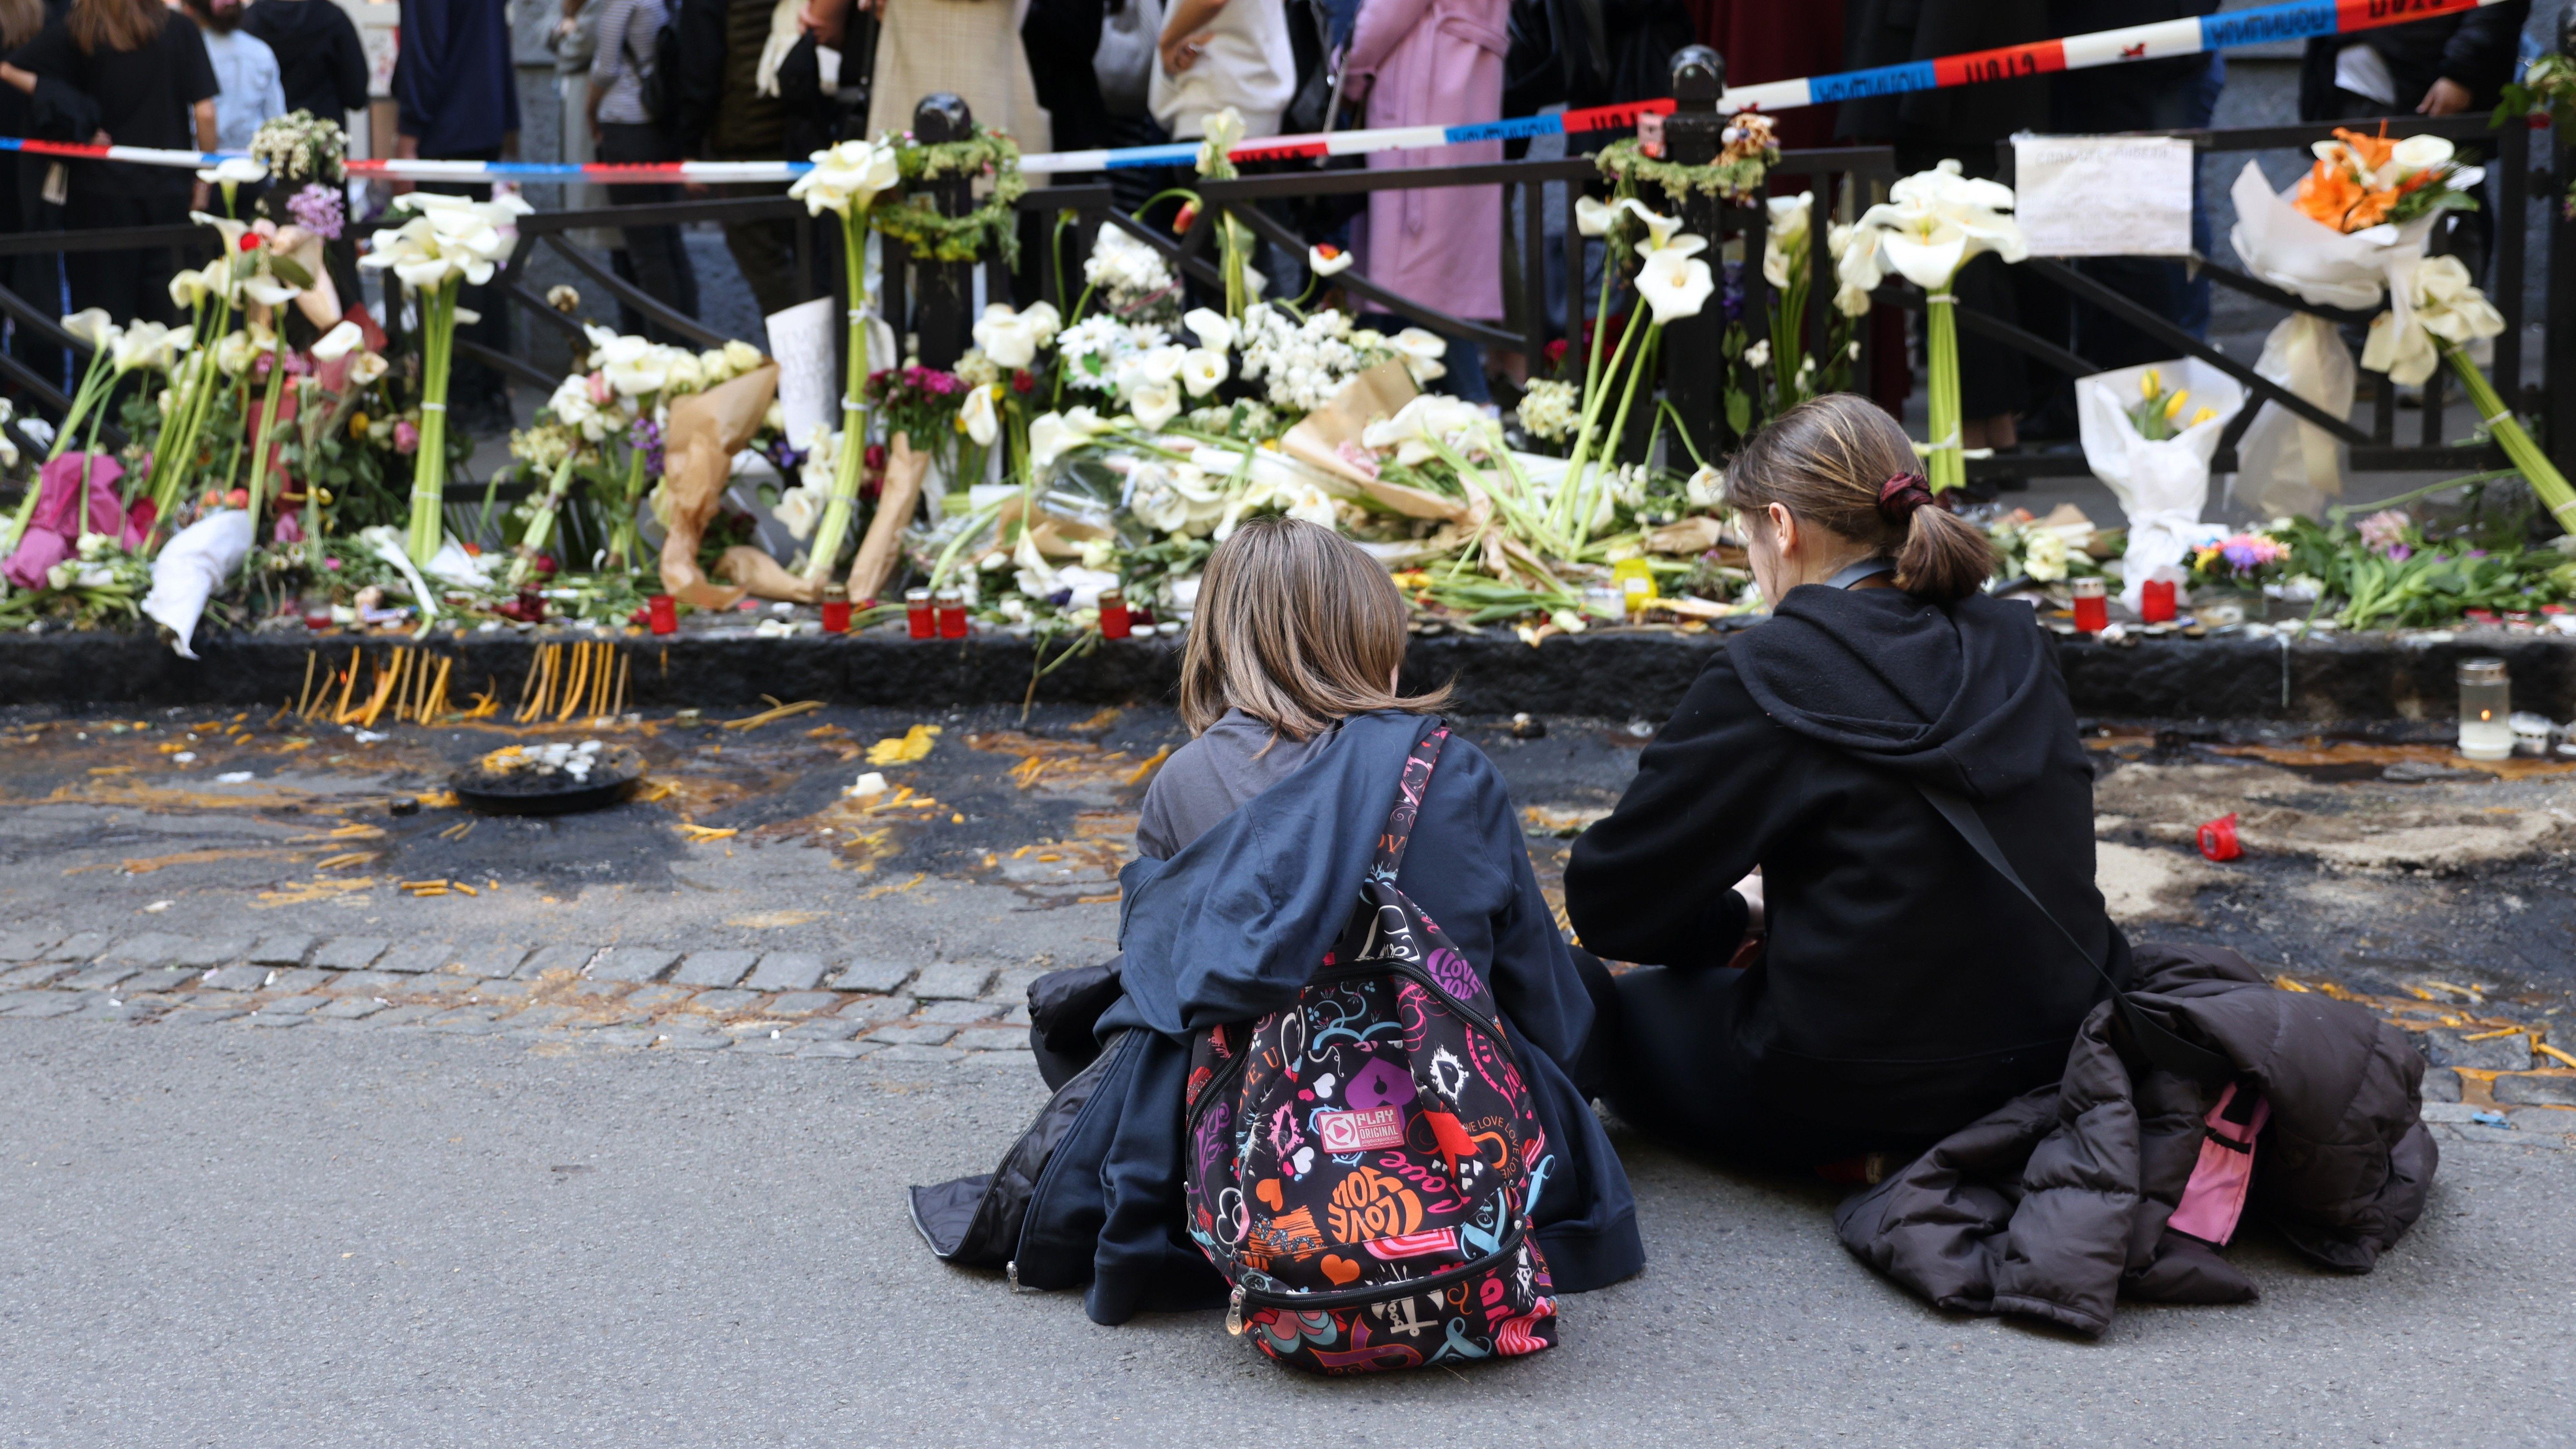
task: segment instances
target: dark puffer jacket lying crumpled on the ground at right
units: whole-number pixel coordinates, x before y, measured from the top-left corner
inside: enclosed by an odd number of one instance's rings
[[[2226,1053],[2272,1104],[2246,1220],[2321,1266],[2367,1274],[2424,1212],[2439,1153],[2421,1122],[2424,1058],[2406,1032],[2318,993],[2269,986],[2223,947],[2136,947],[2130,999]],[[1834,1212],[1842,1246],[1958,1313],[2110,1328],[2120,1295],[2251,1302],[2215,1248],[2166,1230],[2215,1089],[2123,1060],[2110,1004],[2066,1078],[1960,1127]]]

